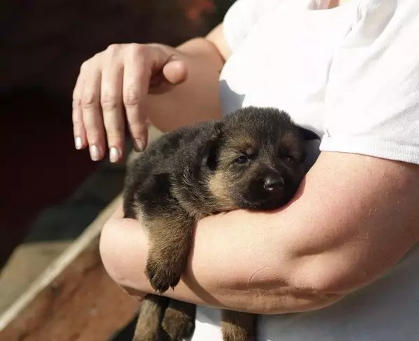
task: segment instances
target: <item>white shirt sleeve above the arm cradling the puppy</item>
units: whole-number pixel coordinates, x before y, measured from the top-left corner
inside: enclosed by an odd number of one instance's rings
[[[320,149],[419,164],[419,3],[360,3],[330,67]]]

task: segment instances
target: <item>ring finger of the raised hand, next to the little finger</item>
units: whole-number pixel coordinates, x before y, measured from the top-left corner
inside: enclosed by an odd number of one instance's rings
[[[105,155],[105,133],[100,106],[101,70],[91,70],[83,85],[82,111],[91,160],[98,161]]]

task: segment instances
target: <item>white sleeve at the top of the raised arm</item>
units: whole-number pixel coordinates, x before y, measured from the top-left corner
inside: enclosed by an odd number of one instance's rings
[[[230,49],[234,52],[260,16],[280,2],[281,0],[236,0],[223,20],[224,35]]]

